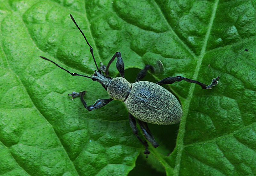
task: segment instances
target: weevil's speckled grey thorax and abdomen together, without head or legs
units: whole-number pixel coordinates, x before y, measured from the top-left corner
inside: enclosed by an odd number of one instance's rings
[[[175,96],[152,82],[131,84],[123,77],[116,77],[108,83],[107,92],[110,98],[124,101],[129,113],[144,122],[171,125],[178,123],[183,114]]]

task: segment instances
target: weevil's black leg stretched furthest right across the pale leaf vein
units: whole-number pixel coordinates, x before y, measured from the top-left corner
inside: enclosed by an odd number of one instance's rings
[[[162,85],[162,84],[172,84],[176,81],[182,81],[185,80],[189,83],[196,83],[198,85],[200,85],[203,89],[212,89],[213,86],[217,85],[219,83],[219,81],[217,81],[220,77],[216,77],[212,79],[212,83],[210,85],[206,85],[204,83],[201,83],[199,81],[193,80],[193,79],[188,79],[186,77],[181,77],[181,76],[177,76],[177,77],[166,77],[164,79],[162,79],[161,81],[158,81],[156,84]]]

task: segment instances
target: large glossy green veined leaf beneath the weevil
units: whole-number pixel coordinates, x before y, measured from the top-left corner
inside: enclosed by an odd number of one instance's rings
[[[256,1],[0,2],[0,175],[256,175]],[[120,101],[88,112],[68,93],[86,90],[88,104],[108,98],[93,74],[120,51],[134,81],[184,76],[165,86],[180,100],[178,125],[149,127],[160,143],[148,159]],[[131,69],[136,68],[136,69]],[[118,76],[115,64],[110,76]],[[175,146],[175,134],[178,134]],[[174,135],[174,136],[172,136]],[[167,154],[171,153],[167,157]],[[136,159],[139,160],[136,162]],[[146,167],[145,165],[148,165]],[[149,169],[148,169],[149,168]]]

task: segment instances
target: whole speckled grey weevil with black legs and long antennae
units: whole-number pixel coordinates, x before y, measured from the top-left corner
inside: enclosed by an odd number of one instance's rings
[[[212,89],[213,86],[218,84],[217,79],[219,79],[220,77],[212,79],[210,85],[206,85],[199,81],[181,76],[166,77],[156,83],[140,81],[143,77],[146,76],[146,73],[149,69],[154,70],[154,67],[151,65],[145,65],[144,69],[142,69],[138,73],[135,82],[129,83],[124,78],[124,62],[120,52],[116,52],[113,55],[111,60],[108,62],[105,74],[103,74],[96,63],[95,57],[93,55],[93,49],[90,43],[87,41],[84,33],[76,24],[76,21],[71,14],[70,17],[72,21],[75,23],[80,33],[82,33],[87,45],[90,47],[90,52],[97,70],[94,71],[94,74],[91,77],[86,75],[80,75],[77,73],[71,73],[70,71],[64,69],[57,63],[53,62],[52,60],[47,59],[43,56],[40,57],[54,63],[56,66],[58,66],[62,70],[67,71],[72,76],[90,78],[92,79],[92,81],[98,81],[105,88],[110,98],[98,99],[93,105],[90,106],[87,106],[84,100],[84,95],[86,91],[72,92],[71,94],[68,94],[72,96],[72,98],[80,97],[82,104],[88,111],[101,108],[107,105],[112,100],[123,101],[129,112],[129,123],[130,126],[132,127],[132,132],[146,147],[144,151],[144,154],[146,154],[146,158],[148,158],[148,154],[150,153],[150,151],[148,150],[148,143],[146,140],[142,140],[142,138],[139,136],[139,130],[137,128],[137,122],[135,118],[138,121],[138,124],[141,128],[144,137],[153,145],[153,147],[156,148],[159,146],[159,144],[156,142],[154,136],[150,132],[147,123],[171,125],[178,123],[183,115],[182,108],[178,99],[161,85],[172,84],[174,82],[185,80],[189,83],[198,84],[203,89]],[[116,69],[120,73],[121,77],[108,77],[109,66],[116,58]]]

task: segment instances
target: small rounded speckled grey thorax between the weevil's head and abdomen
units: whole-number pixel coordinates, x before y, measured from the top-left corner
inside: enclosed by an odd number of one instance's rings
[[[111,99],[124,101],[132,84],[123,77],[114,77],[108,84],[108,95]]]

